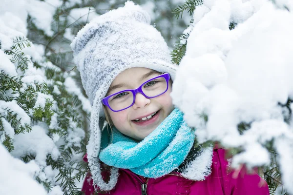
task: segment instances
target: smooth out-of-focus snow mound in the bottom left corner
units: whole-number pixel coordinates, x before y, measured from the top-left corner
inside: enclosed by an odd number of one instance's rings
[[[38,165],[34,162],[25,164],[20,159],[12,157],[2,144],[0,145],[0,159],[1,195],[47,194],[41,184],[33,178],[34,173],[38,171]]]

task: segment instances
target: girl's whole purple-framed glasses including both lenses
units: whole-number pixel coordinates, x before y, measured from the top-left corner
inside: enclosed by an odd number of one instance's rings
[[[146,98],[155,98],[167,92],[169,79],[170,75],[165,73],[147,80],[137,89],[126,89],[107,96],[102,102],[113,112],[125,110],[134,104],[137,93],[141,93]]]

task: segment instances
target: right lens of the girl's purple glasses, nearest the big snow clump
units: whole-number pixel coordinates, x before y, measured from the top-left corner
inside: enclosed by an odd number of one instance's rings
[[[149,98],[159,96],[167,91],[167,81],[164,77],[149,80],[142,90]]]

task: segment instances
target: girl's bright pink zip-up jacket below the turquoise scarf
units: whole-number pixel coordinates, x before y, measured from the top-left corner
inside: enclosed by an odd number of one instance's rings
[[[264,179],[256,173],[248,175],[245,169],[228,171],[224,149],[214,149],[211,174],[203,181],[192,181],[172,172],[159,178],[144,178],[127,169],[120,169],[118,182],[110,192],[98,195],[270,195]],[[90,174],[84,180],[82,191],[93,195]]]

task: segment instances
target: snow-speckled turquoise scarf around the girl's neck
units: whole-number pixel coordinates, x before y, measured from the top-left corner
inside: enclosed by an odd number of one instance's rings
[[[184,161],[194,142],[194,132],[175,108],[144,140],[137,143],[113,128],[102,132],[99,158],[109,166],[130,169],[145,177],[164,176]]]

